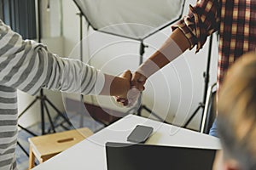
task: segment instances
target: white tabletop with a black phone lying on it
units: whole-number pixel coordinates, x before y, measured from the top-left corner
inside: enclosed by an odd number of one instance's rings
[[[207,134],[197,133],[162,122],[156,122],[141,116],[129,115],[33,169],[107,169],[105,152],[106,142],[126,142],[127,136],[138,124],[154,127],[154,133],[148,139],[147,144],[209,149],[221,148],[219,139]]]

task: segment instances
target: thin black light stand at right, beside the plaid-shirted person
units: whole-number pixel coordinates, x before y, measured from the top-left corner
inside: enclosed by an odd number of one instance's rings
[[[211,64],[211,55],[212,55],[212,35],[210,36],[209,40],[209,48],[208,48],[208,56],[207,56],[207,70],[204,71],[203,77],[205,80],[205,87],[204,87],[204,94],[203,94],[203,101],[199,103],[198,107],[195,109],[195,111],[192,113],[192,115],[189,117],[188,121],[184,123],[183,127],[187,127],[189,125],[189,122],[192,121],[194,116],[200,109],[202,109],[202,112],[205,110],[205,105],[207,101],[207,89],[208,89],[208,84],[209,84],[209,71],[210,71],[210,64]],[[202,121],[203,121],[203,114],[201,116],[201,123],[200,123],[200,128],[202,126]]]

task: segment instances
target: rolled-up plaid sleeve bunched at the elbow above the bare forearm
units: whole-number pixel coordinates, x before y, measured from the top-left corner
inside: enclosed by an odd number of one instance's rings
[[[189,5],[189,14],[172,26],[172,31],[177,28],[183,31],[191,44],[190,49],[197,45],[197,53],[207,41],[207,36],[218,30],[219,10],[218,0],[198,0],[195,7]]]

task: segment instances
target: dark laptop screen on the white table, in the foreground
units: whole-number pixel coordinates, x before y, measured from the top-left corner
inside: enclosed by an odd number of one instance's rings
[[[108,170],[212,170],[215,152],[149,144],[106,144]]]

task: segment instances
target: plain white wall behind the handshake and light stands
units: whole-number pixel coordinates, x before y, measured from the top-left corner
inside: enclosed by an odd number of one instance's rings
[[[187,0],[184,13],[187,14],[189,3],[195,0]],[[63,0],[63,35],[65,37],[64,54],[76,58],[79,56],[79,9],[73,1]],[[101,16],[99,16],[101,17]],[[138,66],[139,42],[134,42],[120,37],[113,37],[104,33],[90,30],[86,36],[86,23],[84,22],[84,61],[90,59],[90,64],[109,74],[118,75],[126,69],[136,70]],[[153,54],[155,48],[159,48],[162,42],[170,35],[171,29],[167,27],[162,32],[156,33],[145,40],[149,44],[146,48],[144,58]],[[120,41],[108,48],[102,48],[104,44]],[[150,47],[154,45],[154,48]],[[89,50],[88,50],[89,48]],[[97,54],[96,51],[99,50]],[[168,122],[181,125],[195,111],[202,101],[204,91],[203,71],[207,68],[208,43],[205,48],[195,54],[195,48],[186,51],[181,57],[174,60],[172,64],[166,65],[162,71],[157,72],[148,79],[146,90],[143,93],[143,105],[147,105],[157,114],[167,117]],[[217,42],[216,36],[212,43],[212,62],[210,68],[210,82],[216,82],[217,73]],[[86,97],[86,101],[100,105],[127,111],[119,105],[114,104],[109,97]],[[148,114],[143,111],[144,114]],[[198,129],[201,120],[199,111],[190,128]]]

